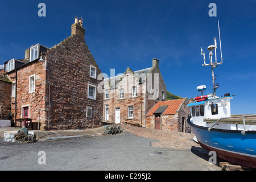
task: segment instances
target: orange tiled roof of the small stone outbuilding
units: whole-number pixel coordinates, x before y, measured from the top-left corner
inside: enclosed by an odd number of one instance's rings
[[[169,101],[160,101],[157,102],[151,110],[147,113],[147,116],[153,115],[153,113],[158,109],[159,106],[168,105],[166,110],[163,112],[162,115],[172,115],[175,114],[177,109],[179,109],[181,103],[184,101],[184,99],[177,99],[177,100],[169,100]]]

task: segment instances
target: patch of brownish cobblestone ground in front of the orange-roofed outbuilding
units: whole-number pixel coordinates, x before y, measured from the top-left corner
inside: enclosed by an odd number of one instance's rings
[[[194,142],[194,135],[190,133],[155,130],[131,125],[122,125],[122,129],[139,137],[159,140],[159,142],[151,143],[154,147],[174,148],[177,150],[190,150],[192,146],[200,147],[199,144]]]

